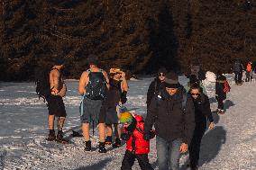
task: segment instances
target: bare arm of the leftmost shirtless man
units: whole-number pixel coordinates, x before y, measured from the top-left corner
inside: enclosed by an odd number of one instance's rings
[[[56,95],[59,93],[59,71],[56,69],[52,69],[50,71],[50,94]]]

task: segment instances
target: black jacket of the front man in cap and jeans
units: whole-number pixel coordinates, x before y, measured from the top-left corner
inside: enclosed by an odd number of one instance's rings
[[[183,112],[183,94],[180,88],[173,96],[163,90],[161,99],[153,97],[145,119],[145,134],[149,134],[154,125],[160,138],[168,141],[182,139],[184,143],[190,143],[195,128],[195,111],[191,97],[186,94],[186,111]]]

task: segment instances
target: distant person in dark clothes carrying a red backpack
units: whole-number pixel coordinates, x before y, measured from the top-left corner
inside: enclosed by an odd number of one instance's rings
[[[215,99],[218,103],[218,114],[224,114],[224,100],[226,99],[226,94],[230,91],[230,86],[226,80],[226,77],[222,74],[217,74],[215,83]]]

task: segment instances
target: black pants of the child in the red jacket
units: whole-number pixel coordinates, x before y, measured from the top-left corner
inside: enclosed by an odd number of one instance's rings
[[[126,150],[124,154],[121,170],[132,170],[135,158],[138,160],[142,170],[153,170],[148,154],[133,154],[129,150]]]

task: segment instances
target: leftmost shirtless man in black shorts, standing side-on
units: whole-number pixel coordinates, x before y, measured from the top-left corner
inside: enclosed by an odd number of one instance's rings
[[[59,143],[68,143],[67,139],[63,139],[62,129],[67,116],[65,105],[63,103],[62,97],[65,96],[67,92],[67,87],[62,79],[61,68],[63,68],[64,60],[62,58],[55,59],[55,65],[50,70],[50,96],[46,98],[48,103],[48,126],[49,126],[49,137],[47,140],[56,140]],[[57,127],[58,134],[55,136],[54,130],[54,120],[58,117]]]

